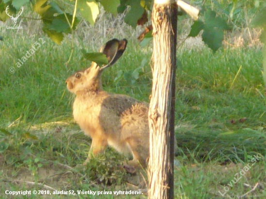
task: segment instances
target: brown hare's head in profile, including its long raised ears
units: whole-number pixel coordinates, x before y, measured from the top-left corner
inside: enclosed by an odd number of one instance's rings
[[[95,62],[92,62],[88,69],[75,72],[66,80],[68,90],[74,94],[86,90],[102,90],[101,74],[103,70],[112,66],[121,57],[126,46],[126,39],[121,41],[113,39],[105,43],[100,52],[106,55],[108,64],[100,68]]]

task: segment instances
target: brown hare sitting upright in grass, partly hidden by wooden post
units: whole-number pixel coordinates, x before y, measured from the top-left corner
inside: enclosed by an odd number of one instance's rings
[[[149,156],[148,103],[126,95],[103,91],[101,74],[123,54],[127,40],[113,39],[100,50],[109,64],[103,67],[92,62],[88,69],[77,71],[66,80],[67,88],[76,95],[74,120],[92,138],[89,156],[104,152],[107,145],[118,152],[131,154],[131,166],[146,167]]]

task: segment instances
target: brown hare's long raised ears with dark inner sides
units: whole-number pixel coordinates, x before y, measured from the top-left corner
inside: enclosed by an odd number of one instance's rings
[[[100,53],[106,55],[108,59],[108,64],[103,66],[100,70],[103,71],[104,69],[112,66],[116,61],[123,55],[128,41],[126,39],[118,40],[112,39],[105,43],[105,45],[100,49]]]

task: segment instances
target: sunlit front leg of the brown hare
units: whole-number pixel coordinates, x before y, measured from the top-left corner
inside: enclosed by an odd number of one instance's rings
[[[97,154],[103,153],[108,142],[107,139],[102,135],[97,135],[92,137],[91,146],[89,149],[89,155],[83,165],[86,165],[92,156],[96,156]]]

